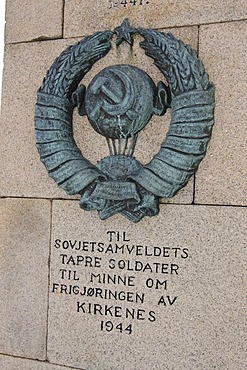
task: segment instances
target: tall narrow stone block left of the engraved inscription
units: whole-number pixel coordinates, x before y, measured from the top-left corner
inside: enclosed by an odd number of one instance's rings
[[[1,353],[46,358],[50,211],[47,200],[0,200]]]

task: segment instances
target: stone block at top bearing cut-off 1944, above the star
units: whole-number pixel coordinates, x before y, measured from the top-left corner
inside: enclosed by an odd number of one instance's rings
[[[65,2],[64,36],[113,29],[125,18],[133,27],[165,28],[245,19],[245,0],[80,0]]]

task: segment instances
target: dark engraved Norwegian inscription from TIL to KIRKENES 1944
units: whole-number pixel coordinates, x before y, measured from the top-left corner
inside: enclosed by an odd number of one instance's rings
[[[57,237],[53,250],[59,268],[51,293],[71,297],[74,312],[98,320],[101,331],[132,334],[136,322],[160,320],[179,302],[184,246],[137,244],[126,231],[108,230],[100,241]]]

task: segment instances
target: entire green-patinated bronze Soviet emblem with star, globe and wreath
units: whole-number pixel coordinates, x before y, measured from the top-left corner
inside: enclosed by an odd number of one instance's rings
[[[164,75],[157,86],[141,69],[119,64],[98,73],[88,88],[79,83],[111,49],[117,35],[132,35]],[[105,136],[109,156],[96,165],[83,157],[73,138],[74,108]],[[159,152],[148,164],[134,158],[138,133],[153,114],[171,108],[171,122]],[[169,33],[132,29],[128,21],[97,32],[67,48],[48,70],[35,109],[36,145],[49,175],[80,206],[101,219],[118,212],[133,222],[159,212],[159,198],[184,187],[205,156],[214,123],[214,86],[196,52]]]

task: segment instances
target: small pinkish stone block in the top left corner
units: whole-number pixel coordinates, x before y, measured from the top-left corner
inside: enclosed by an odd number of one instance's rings
[[[7,0],[7,44],[62,37],[63,0]]]

